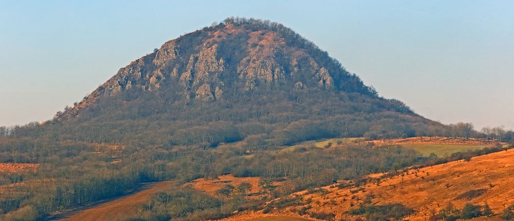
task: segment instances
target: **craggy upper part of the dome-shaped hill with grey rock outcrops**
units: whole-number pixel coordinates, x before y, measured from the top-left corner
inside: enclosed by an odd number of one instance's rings
[[[177,82],[178,87],[163,88],[167,81]],[[72,109],[132,88],[176,90],[184,99],[203,102],[216,101],[226,91],[270,88],[318,88],[375,96],[326,52],[290,29],[267,22],[222,23],[166,42],[120,68]]]

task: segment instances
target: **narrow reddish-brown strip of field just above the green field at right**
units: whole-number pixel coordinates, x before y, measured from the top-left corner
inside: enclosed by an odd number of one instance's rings
[[[401,145],[401,144],[453,144],[453,145],[495,145],[498,144],[497,140],[494,142],[485,138],[468,138],[462,139],[459,137],[440,137],[440,136],[417,136],[411,138],[400,139],[381,139],[370,140],[367,143],[373,143],[377,146],[383,145]],[[504,143],[505,144],[505,143]]]

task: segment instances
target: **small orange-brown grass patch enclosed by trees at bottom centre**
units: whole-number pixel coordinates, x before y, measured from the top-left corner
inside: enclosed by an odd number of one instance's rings
[[[260,184],[259,177],[234,177],[231,174],[218,176],[216,179],[195,179],[185,185],[191,185],[194,189],[203,191],[210,196],[218,197],[216,191],[223,188],[225,185],[236,187],[242,183],[249,183],[252,185],[252,189],[248,192],[249,194],[255,195],[262,191],[262,185]]]

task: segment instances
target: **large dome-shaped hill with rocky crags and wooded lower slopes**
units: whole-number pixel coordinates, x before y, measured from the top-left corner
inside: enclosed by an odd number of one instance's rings
[[[258,148],[321,137],[423,135],[441,127],[379,97],[293,30],[234,17],[121,68],[56,122],[67,125],[62,134],[77,139],[79,133],[85,142],[212,146],[251,139],[246,144]]]

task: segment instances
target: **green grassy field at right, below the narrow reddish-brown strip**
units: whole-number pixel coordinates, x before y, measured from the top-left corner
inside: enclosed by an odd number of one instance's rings
[[[423,156],[429,156],[435,153],[439,157],[448,156],[456,152],[466,152],[473,150],[480,150],[488,145],[458,145],[458,144],[402,144],[400,145],[407,149],[413,149]]]

